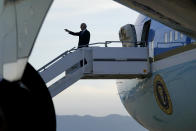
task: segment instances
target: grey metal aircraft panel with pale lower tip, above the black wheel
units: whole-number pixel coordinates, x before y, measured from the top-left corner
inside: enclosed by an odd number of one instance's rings
[[[28,57],[53,0],[0,1],[0,77],[22,77]]]

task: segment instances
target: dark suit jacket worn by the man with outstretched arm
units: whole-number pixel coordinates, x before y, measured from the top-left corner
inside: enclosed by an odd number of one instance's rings
[[[85,30],[84,32],[72,32],[70,31],[69,34],[79,36],[78,48],[81,47],[88,47],[90,41],[90,32]]]

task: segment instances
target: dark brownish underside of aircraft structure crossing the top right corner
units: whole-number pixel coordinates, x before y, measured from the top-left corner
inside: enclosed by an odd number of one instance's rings
[[[196,38],[196,0],[114,0]]]

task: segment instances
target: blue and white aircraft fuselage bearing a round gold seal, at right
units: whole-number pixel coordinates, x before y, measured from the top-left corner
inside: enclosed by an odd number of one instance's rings
[[[138,39],[149,20],[141,15],[136,21]],[[122,103],[150,131],[196,130],[195,41],[155,20],[151,20],[147,37],[152,74],[117,80]]]

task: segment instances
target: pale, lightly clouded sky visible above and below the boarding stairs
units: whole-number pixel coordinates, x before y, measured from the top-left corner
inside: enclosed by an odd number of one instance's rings
[[[90,43],[119,41],[120,27],[134,24],[137,16],[137,12],[112,0],[54,0],[29,62],[39,69],[77,46],[78,37],[66,33],[65,28],[77,32],[84,22],[91,33]],[[53,102],[57,115],[128,115],[115,80],[79,80],[54,97]]]

